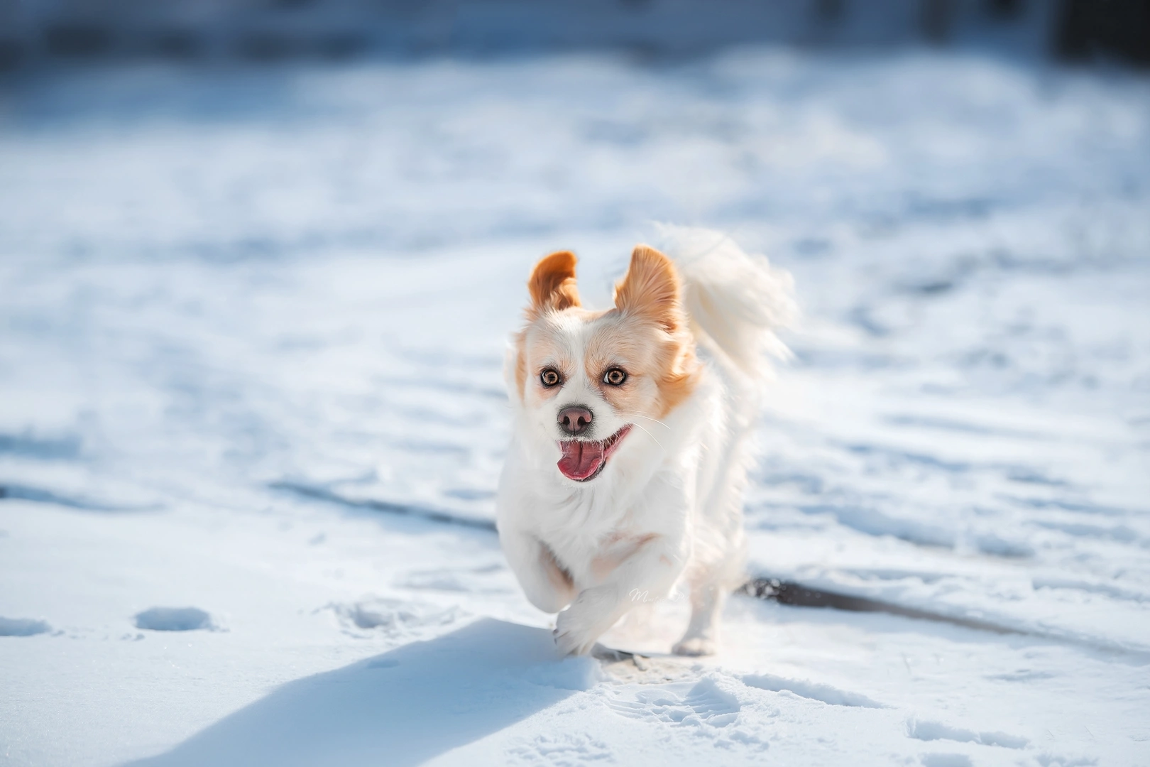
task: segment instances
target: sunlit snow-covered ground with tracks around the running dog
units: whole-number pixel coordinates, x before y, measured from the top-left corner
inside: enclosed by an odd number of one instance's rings
[[[13,765],[1150,764],[1150,83],[746,51],[43,75],[0,94]],[[503,562],[534,260],[796,276],[752,575],[558,660]],[[454,520],[454,521],[451,521]],[[467,522],[467,523],[461,523]]]

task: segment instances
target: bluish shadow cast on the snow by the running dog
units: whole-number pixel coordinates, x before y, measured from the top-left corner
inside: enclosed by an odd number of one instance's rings
[[[545,629],[481,620],[289,682],[126,767],[416,765],[586,689],[596,668],[560,660]]]

